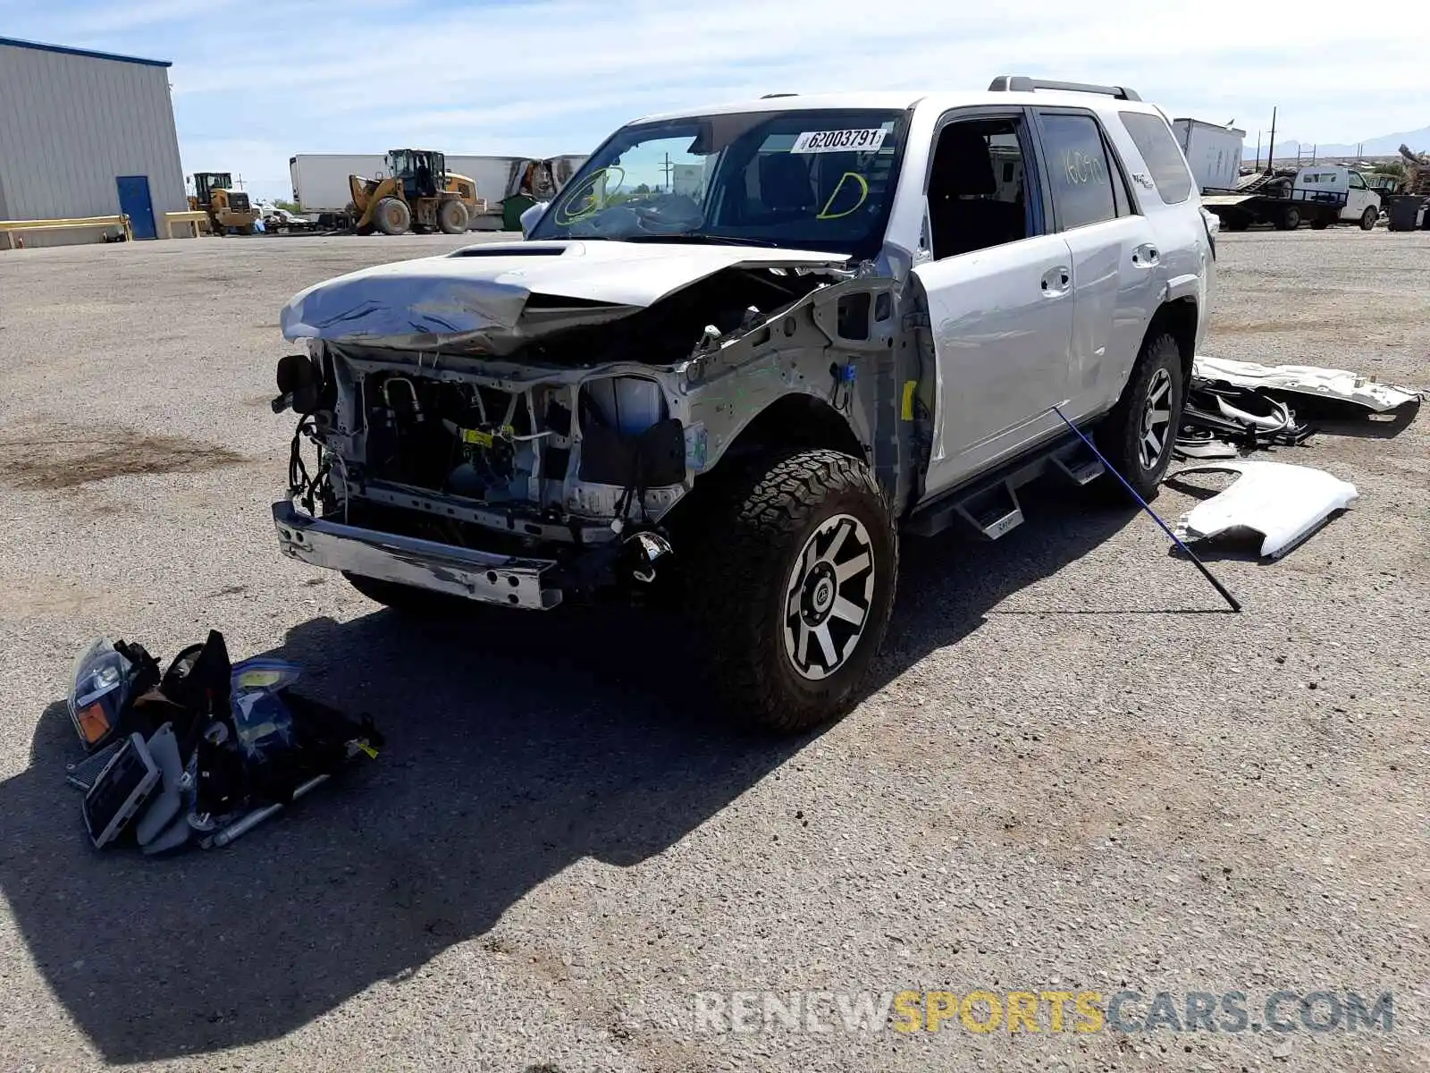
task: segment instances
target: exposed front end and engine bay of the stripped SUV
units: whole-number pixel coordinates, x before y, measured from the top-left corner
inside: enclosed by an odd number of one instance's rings
[[[350,298],[352,322],[369,310]],[[918,401],[895,349],[892,280],[726,268],[611,309],[532,293],[511,329],[450,348],[393,345],[390,309],[380,333],[310,335],[280,363],[275,401],[300,415],[289,499],[306,516],[275,505],[285,551],[362,572],[339,559],[363,541],[383,557],[379,577],[548,607],[552,589],[652,579],[672,551],[672,508],[774,403],[798,403],[791,422],[837,422],[885,474],[914,469],[897,465],[911,446],[894,435],[898,408]],[[347,551],[323,552],[329,538]]]

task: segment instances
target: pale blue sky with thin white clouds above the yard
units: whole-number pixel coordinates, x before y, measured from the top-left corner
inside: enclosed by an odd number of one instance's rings
[[[184,169],[287,196],[295,153],[589,152],[649,112],[775,90],[1134,86],[1175,116],[1354,143],[1430,123],[1396,9],[1163,0],[0,0],[0,34],[172,60]]]

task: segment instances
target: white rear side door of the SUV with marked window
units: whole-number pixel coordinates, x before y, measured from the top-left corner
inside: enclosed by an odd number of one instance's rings
[[[1067,393],[1078,419],[1117,402],[1157,306],[1163,250],[1095,113],[1037,109],[1037,129],[1054,226],[1072,258]]]

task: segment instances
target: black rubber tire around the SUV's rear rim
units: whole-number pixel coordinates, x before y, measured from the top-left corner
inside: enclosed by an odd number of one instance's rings
[[[1154,391],[1167,388],[1168,418],[1164,432],[1161,454],[1153,465],[1147,465],[1143,451],[1148,415],[1148,402]],[[1171,464],[1173,442],[1177,439],[1177,429],[1181,426],[1181,411],[1187,399],[1187,378],[1183,372],[1181,348],[1167,332],[1148,336],[1143,343],[1143,351],[1133,366],[1133,375],[1123,389],[1123,396],[1117,406],[1107,415],[1095,435],[1098,451],[1113,464],[1127,484],[1148,502],[1157,496],[1167,466]],[[1127,489],[1111,474],[1104,475],[1100,484],[1113,498],[1127,496]]]

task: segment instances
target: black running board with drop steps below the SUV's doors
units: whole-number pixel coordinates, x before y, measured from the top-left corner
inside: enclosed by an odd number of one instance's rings
[[[984,539],[995,541],[1022,525],[1018,489],[1050,471],[1078,486],[1088,485],[1107,472],[1087,444],[1068,433],[982,479],[919,505],[904,531],[915,536],[932,536],[961,521]]]

